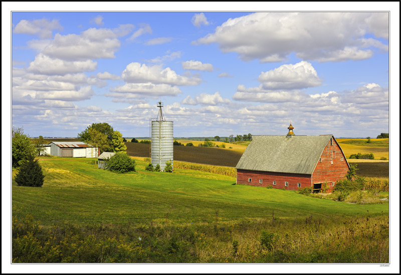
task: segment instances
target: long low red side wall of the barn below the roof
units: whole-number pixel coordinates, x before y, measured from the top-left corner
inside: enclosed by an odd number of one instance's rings
[[[249,178],[252,182],[249,182]],[[259,183],[262,179],[262,183]],[[276,180],[276,185],[273,185],[273,180]],[[237,169],[237,184],[248,184],[254,186],[272,185],[274,188],[283,188],[285,182],[288,182],[288,190],[298,190],[298,182],[301,183],[301,188],[311,186],[310,175],[308,174],[287,174],[267,171],[251,171]]]

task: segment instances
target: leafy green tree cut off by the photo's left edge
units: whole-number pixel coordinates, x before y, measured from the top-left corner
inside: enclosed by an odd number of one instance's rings
[[[22,127],[13,127],[12,142],[12,164],[13,167],[20,166],[30,156],[35,156],[36,148]]]

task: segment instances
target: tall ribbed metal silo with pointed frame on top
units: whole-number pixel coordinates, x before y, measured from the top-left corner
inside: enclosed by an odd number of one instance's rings
[[[157,102],[159,113],[157,118],[151,120],[151,145],[150,157],[153,166],[160,165],[160,171],[164,170],[167,160],[173,161],[173,121],[166,121],[161,107],[163,103]]]

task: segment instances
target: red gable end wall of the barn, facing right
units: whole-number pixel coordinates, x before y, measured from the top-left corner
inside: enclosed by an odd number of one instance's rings
[[[333,151],[335,152],[334,158]],[[345,174],[348,172],[348,164],[345,160],[345,155],[341,152],[340,146],[334,138],[333,145],[330,145],[329,141],[320,157],[322,158],[322,162],[317,162],[312,174],[312,183],[327,181],[331,190],[331,182],[337,182],[338,180],[345,178]],[[343,157],[342,161],[341,157]],[[331,161],[333,161],[333,164],[331,164]]]

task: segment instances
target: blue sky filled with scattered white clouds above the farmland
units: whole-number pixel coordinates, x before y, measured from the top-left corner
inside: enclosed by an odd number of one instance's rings
[[[13,12],[12,124],[76,136],[388,132],[388,12]]]

